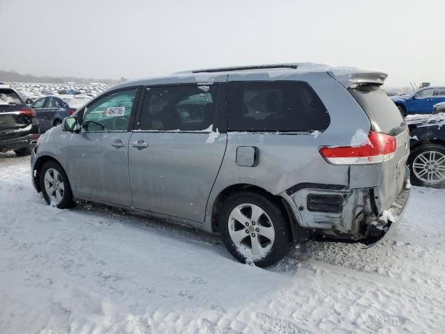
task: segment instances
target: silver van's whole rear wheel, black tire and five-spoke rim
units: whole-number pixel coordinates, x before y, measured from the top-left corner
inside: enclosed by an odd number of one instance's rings
[[[225,247],[241,263],[269,267],[282,260],[291,248],[286,209],[280,202],[259,193],[245,191],[227,198],[221,208],[219,228]]]

